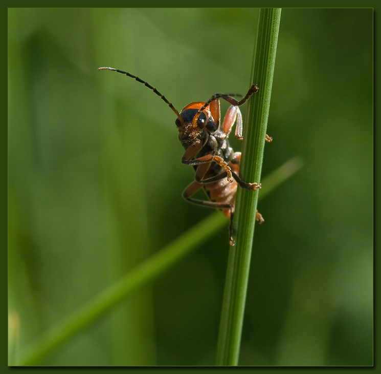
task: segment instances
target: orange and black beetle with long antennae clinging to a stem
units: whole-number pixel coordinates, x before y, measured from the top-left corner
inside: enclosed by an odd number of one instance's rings
[[[98,70],[116,71],[136,79],[160,96],[176,114],[178,138],[185,148],[181,161],[184,164],[192,165],[195,170],[195,180],[184,190],[183,197],[193,204],[219,209],[226,217],[230,217],[230,244],[234,245],[233,215],[237,186],[256,191],[261,188],[261,183],[249,183],[240,179],[241,153],[234,152],[228,138],[236,122],[235,136],[240,140],[243,139],[242,114],[239,107],[259,90],[258,86],[253,84],[241,100],[233,97],[241,95],[216,93],[208,101],[190,103],[179,113],[164,95],[136,75],[109,67],[98,68]],[[226,100],[231,104],[223,118],[222,126],[220,126],[219,99]],[[271,142],[272,138],[266,135],[265,140]],[[192,197],[201,189],[206,191],[210,200],[199,200]],[[264,221],[258,211],[256,220],[259,223]]]

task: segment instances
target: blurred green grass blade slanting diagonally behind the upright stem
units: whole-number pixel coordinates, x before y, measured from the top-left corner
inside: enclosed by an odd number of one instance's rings
[[[293,158],[268,175],[263,180],[264,188],[260,198],[274,191],[278,185],[292,176],[300,166],[301,162],[299,159]],[[43,334],[29,349],[26,349],[22,353],[18,365],[38,365],[61,344],[104,316],[107,311],[124,300],[131,292],[159,277],[177,261],[180,261],[194,250],[198,244],[220,230],[223,226],[227,226],[227,224],[227,219],[220,212],[215,212],[196,224],[180,238],[137,266],[119,282],[107,288],[71,316]]]

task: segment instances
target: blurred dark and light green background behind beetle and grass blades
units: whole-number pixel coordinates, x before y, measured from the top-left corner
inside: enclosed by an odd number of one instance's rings
[[[212,213],[181,197],[175,115],[97,68],[178,110],[245,93],[257,17],[8,10],[10,363]],[[259,203],[240,365],[372,365],[372,37],[372,9],[282,11],[262,170],[303,168]],[[214,365],[227,227],[42,364]]]

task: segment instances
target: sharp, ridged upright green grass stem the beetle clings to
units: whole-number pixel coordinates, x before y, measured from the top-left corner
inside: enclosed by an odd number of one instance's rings
[[[261,8],[259,11],[252,73],[252,83],[258,85],[259,91],[251,97],[246,113],[240,166],[240,176],[245,181],[260,182],[280,14],[280,8]],[[238,189],[237,192],[234,218],[236,246],[231,247],[229,252],[218,336],[217,365],[238,365],[259,191],[253,193]]]

